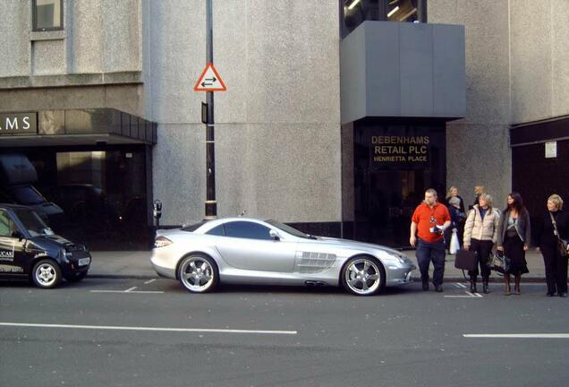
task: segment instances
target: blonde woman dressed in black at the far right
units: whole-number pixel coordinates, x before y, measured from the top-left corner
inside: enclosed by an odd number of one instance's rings
[[[561,256],[557,249],[557,235],[553,222],[561,239],[569,238],[569,214],[563,211],[563,199],[558,194],[548,197],[548,211],[542,219],[543,227],[537,233],[538,250],[543,255],[546,267],[546,281],[548,293],[552,297],[556,293],[559,297],[567,297],[567,257]]]

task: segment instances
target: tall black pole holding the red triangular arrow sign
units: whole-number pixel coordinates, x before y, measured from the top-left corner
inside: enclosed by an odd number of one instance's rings
[[[212,0],[207,0],[206,15],[206,56],[207,63],[213,64],[213,9]],[[213,91],[207,91],[208,119],[206,123],[206,217],[217,217],[216,202],[216,148],[214,135],[214,97]]]

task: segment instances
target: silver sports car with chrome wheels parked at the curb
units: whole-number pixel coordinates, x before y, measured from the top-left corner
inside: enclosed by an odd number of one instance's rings
[[[412,281],[406,255],[382,245],[310,236],[271,219],[225,218],[158,230],[152,266],[194,293],[217,284],[343,286],[369,296]]]

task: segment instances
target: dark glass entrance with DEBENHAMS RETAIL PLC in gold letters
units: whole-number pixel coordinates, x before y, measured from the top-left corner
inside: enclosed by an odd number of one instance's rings
[[[444,123],[353,123],[353,234],[382,245],[409,245],[412,212],[424,191],[446,185]]]

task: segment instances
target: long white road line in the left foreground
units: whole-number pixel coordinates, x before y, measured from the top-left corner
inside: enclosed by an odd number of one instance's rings
[[[200,329],[200,328],[158,328],[136,326],[112,326],[112,325],[68,325],[68,324],[40,324],[40,323],[0,323],[1,326],[30,327],[30,328],[65,328],[84,330],[106,331],[176,331],[176,332],[202,332],[202,333],[255,333],[274,335],[295,335],[298,331],[251,331],[230,329]]]

